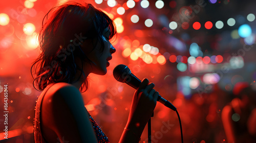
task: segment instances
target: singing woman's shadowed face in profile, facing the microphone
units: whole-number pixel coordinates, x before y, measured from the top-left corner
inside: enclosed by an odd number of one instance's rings
[[[86,52],[86,56],[91,60],[91,65],[87,66],[91,70],[90,73],[97,75],[105,75],[106,67],[110,65],[109,61],[112,59],[112,54],[116,52],[116,49],[109,41],[110,31],[109,28],[105,28],[103,31],[102,39],[104,42],[104,50],[102,51],[102,45],[98,40],[96,46],[92,52]],[[87,47],[88,48],[88,47]],[[90,48],[91,49],[91,48]],[[91,51],[91,50],[90,50]]]

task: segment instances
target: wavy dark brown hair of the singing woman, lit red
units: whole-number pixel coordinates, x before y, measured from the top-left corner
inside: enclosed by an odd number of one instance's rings
[[[41,53],[31,66],[33,86],[36,84],[42,91],[50,83],[74,83],[82,76],[85,77],[83,67],[76,64],[75,57],[81,60],[82,65],[83,62],[91,61],[83,53],[80,45],[85,40],[92,42],[92,39],[96,38],[101,43],[103,51],[102,32],[108,27],[111,39],[116,34],[113,20],[91,4],[67,2],[52,8],[42,20],[38,35],[38,49]],[[93,42],[94,47],[95,44]],[[81,74],[75,81],[78,70]],[[88,79],[84,79],[79,90],[86,91],[88,85]]]

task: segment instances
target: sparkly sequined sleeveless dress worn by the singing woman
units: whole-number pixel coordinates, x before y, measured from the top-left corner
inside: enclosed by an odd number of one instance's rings
[[[49,87],[50,88],[50,87]],[[49,89],[48,88],[48,89]],[[47,89],[47,90],[48,90]],[[47,92],[47,91],[46,91]],[[44,138],[44,136],[42,136],[42,131],[41,131],[41,116],[40,116],[40,110],[41,110],[41,103],[42,103],[42,99],[44,99],[44,95],[41,95],[37,98],[36,100],[36,106],[35,106],[35,118],[34,118],[34,140],[35,143],[48,143],[46,141],[46,139]],[[106,137],[106,135],[104,134],[104,132],[100,129],[100,127],[98,126],[98,124],[94,121],[93,117],[90,115],[90,113],[88,112],[89,117],[90,117],[90,121],[92,123],[94,132],[96,134],[97,140],[98,142],[110,142],[109,138]]]

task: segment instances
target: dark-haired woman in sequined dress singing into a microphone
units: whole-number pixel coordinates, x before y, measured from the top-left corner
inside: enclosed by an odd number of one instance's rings
[[[35,142],[110,142],[84,108],[80,92],[88,88],[90,73],[106,74],[116,51],[109,41],[116,34],[113,20],[91,4],[74,2],[51,9],[45,18],[41,53],[31,67],[33,83],[42,91],[35,107]],[[119,142],[139,142],[156,106],[153,88],[144,79],[135,91]]]

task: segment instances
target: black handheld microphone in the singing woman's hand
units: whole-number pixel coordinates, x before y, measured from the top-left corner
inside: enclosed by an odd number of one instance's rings
[[[139,88],[141,83],[141,80],[134,76],[129,67],[124,64],[119,64],[114,68],[113,76],[117,81],[126,83],[135,89]],[[177,108],[172,103],[162,98],[160,95],[158,95],[157,101],[174,111],[177,110]]]

